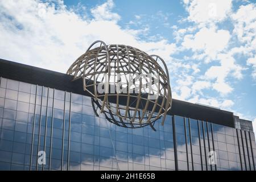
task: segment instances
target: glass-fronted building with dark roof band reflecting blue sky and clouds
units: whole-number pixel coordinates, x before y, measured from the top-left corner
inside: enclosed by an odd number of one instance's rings
[[[71,75],[1,59],[0,77],[1,170],[255,170],[252,123],[232,112],[172,100],[164,126],[128,129]]]

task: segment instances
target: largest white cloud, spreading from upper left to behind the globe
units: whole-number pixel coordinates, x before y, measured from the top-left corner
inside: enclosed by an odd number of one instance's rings
[[[123,29],[113,1],[94,7],[93,19],[68,10],[63,1],[0,1],[0,57],[36,67],[66,72],[95,40],[126,44],[158,54],[167,62],[175,44],[144,42],[145,30]]]

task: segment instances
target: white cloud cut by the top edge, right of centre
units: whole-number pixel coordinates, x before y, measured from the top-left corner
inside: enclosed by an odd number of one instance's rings
[[[203,27],[207,23],[220,22],[232,11],[232,0],[185,0],[188,20]]]

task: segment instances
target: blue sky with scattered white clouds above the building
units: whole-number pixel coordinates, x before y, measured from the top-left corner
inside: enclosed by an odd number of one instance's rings
[[[256,131],[256,1],[0,0],[0,58],[65,73],[95,40],[161,56],[172,97]]]

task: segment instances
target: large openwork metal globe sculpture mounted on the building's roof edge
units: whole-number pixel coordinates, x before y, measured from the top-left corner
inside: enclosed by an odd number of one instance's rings
[[[98,46],[97,46],[98,45]],[[163,65],[164,68],[160,66]],[[69,67],[92,96],[95,114],[129,128],[150,126],[171,109],[169,74],[163,59],[125,45],[98,40]]]

